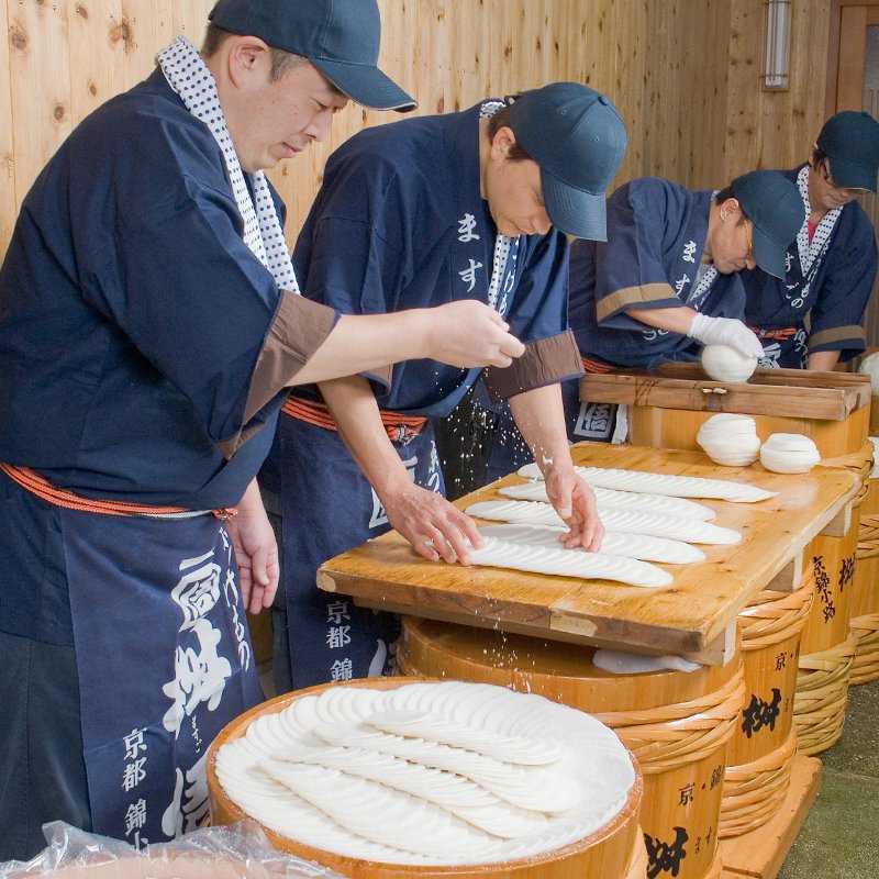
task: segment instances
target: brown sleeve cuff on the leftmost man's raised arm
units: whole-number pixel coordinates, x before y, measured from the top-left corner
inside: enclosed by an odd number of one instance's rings
[[[278,391],[290,385],[293,376],[324,343],[337,320],[338,314],[334,309],[288,290],[281,291],[278,313],[251,378],[251,393],[244,407],[245,425]],[[218,448],[229,459],[263,426],[262,421],[249,424],[236,436],[219,443]]]

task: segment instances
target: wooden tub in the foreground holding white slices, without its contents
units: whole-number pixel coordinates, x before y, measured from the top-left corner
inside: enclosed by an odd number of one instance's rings
[[[419,678],[420,681],[434,679]],[[208,752],[208,799],[212,824],[233,824],[247,815],[225,793],[216,774],[216,753],[226,743],[241,738],[251,723],[266,714],[283,711],[297,699],[319,696],[331,687],[355,687],[388,690],[415,682],[413,678],[364,678],[345,683],[329,683],[279,696],[230,723],[216,736]],[[349,877],[349,879],[642,879],[637,872],[639,859],[638,812],[644,793],[637,764],[635,783],[623,809],[603,827],[570,845],[542,855],[497,864],[414,866],[363,860],[314,848],[289,836],[263,826],[266,836],[281,852],[313,860]],[[634,872],[633,872],[634,870]]]

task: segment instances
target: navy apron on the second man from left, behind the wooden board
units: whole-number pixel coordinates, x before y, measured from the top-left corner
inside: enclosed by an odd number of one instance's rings
[[[293,689],[392,674],[399,616],[316,586],[324,561],[390,531],[385,510],[336,431],[281,414],[278,433]],[[445,493],[430,425],[393,447],[416,485]]]

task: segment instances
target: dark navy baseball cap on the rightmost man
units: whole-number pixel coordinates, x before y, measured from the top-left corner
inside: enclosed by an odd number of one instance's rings
[[[879,122],[869,113],[844,110],[831,116],[817,136],[817,148],[827,154],[837,186],[876,192]]]

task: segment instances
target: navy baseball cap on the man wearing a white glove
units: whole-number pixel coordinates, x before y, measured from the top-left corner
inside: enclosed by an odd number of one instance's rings
[[[800,190],[785,175],[769,170],[743,174],[730,188],[754,224],[754,260],[783,280],[788,247],[805,222]]]

